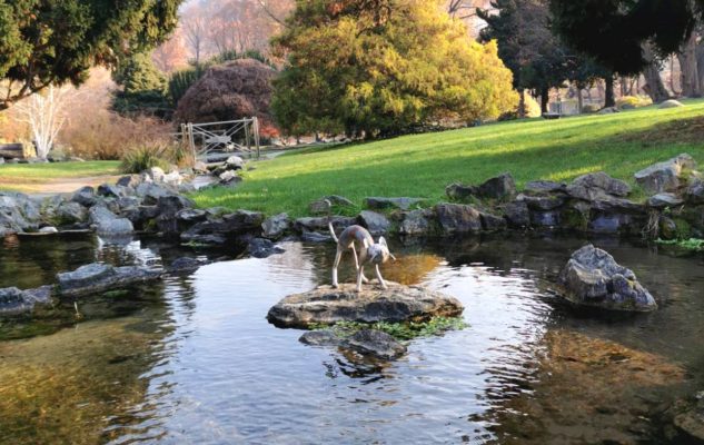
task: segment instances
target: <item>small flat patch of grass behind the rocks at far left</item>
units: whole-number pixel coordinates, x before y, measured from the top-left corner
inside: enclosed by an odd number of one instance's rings
[[[61,185],[78,189],[91,182],[89,179],[80,184],[83,178],[96,178],[119,175],[119,161],[96,160],[87,162],[56,162],[56,164],[4,164],[0,165],[0,190],[13,191],[46,191],[52,186],[59,189]],[[59,190],[63,191],[63,190]]]

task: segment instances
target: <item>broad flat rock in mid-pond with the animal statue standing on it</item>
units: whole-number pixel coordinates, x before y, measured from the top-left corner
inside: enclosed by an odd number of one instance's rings
[[[335,289],[320,286],[314,290],[289,295],[269,309],[267,319],[279,327],[307,328],[311,324],[334,325],[339,322],[412,322],[435,316],[455,317],[462,304],[447,295],[419,286],[401,286],[387,281],[388,289],[344,284]]]

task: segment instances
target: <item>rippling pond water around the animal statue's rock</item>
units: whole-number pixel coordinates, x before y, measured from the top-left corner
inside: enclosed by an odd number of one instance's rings
[[[300,330],[265,319],[284,296],[328,283],[333,245],[285,243],[267,259],[197,253],[219,261],[2,320],[0,443],[663,443],[657,413],[704,387],[704,263],[591,241],[661,308],[607,316],[563,304],[551,283],[586,239],[393,244],[385,277],[457,297],[468,326],[412,340],[390,363],[305,346]],[[0,287],[185,254],[155,239],[6,239]]]

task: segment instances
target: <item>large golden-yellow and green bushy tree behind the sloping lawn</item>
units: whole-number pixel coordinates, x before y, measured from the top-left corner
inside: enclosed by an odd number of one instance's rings
[[[496,44],[467,39],[440,3],[296,2],[272,42],[288,56],[271,101],[281,130],[388,137],[513,109],[517,96]]]

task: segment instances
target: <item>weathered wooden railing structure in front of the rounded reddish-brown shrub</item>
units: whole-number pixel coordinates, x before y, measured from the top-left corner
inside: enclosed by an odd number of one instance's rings
[[[217,156],[247,156],[259,159],[259,119],[257,117],[222,122],[181,123],[181,141],[196,159],[208,161]]]

